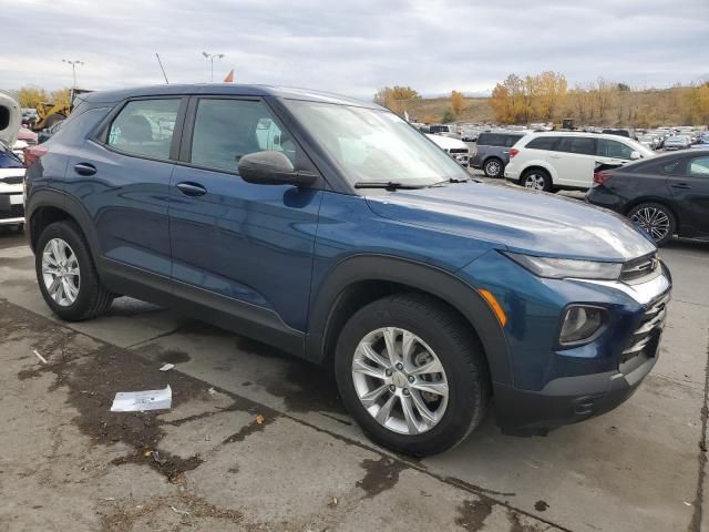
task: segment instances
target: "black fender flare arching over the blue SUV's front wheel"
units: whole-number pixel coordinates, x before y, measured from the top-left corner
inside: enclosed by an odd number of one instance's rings
[[[382,280],[410,286],[436,296],[454,307],[472,325],[480,338],[493,382],[512,383],[507,342],[497,318],[480,294],[453,274],[407,258],[362,254],[340,260],[314,290],[306,337],[306,357],[317,364],[328,361],[328,328],[332,310],[348,286]]]

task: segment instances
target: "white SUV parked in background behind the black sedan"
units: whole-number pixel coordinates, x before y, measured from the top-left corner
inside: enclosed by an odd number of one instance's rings
[[[655,152],[618,135],[548,132],[523,136],[510,150],[507,181],[537,191],[587,190],[598,164],[625,164]]]

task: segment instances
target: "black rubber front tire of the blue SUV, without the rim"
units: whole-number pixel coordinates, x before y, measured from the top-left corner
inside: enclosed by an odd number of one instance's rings
[[[366,335],[382,327],[400,327],[419,336],[445,370],[448,406],[438,424],[425,432],[403,434],[383,427],[357,395],[351,371],[354,351]],[[388,296],[357,311],[340,334],[335,374],[347,410],[364,432],[383,447],[417,457],[436,454],[463,441],[482,421],[490,398],[487,365],[470,325],[443,303],[419,294]]]

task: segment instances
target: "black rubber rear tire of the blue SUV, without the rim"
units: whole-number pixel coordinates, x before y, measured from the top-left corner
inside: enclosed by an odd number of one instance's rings
[[[42,255],[47,243],[52,238],[61,238],[76,255],[81,280],[79,294],[73,304],[61,306],[50,296],[42,276]],[[52,311],[68,321],[82,321],[104,313],[113,301],[114,295],[104,288],[96,274],[93,257],[81,229],[72,222],[55,222],[44,228],[37,243],[34,269],[42,297]]]

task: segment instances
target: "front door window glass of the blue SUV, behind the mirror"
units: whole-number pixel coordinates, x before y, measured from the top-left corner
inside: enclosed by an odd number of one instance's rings
[[[284,152],[295,164],[296,145],[263,102],[202,99],[197,104],[191,161],[236,171],[254,152]]]

